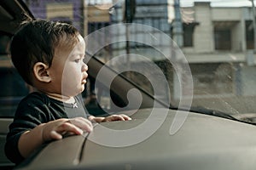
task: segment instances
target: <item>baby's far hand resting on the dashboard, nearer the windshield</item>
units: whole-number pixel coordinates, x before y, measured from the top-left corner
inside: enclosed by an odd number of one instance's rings
[[[107,116],[107,117],[89,116],[89,120],[91,122],[130,121],[131,117],[130,116],[126,116],[124,114],[121,114],[121,115],[111,115],[111,116]]]

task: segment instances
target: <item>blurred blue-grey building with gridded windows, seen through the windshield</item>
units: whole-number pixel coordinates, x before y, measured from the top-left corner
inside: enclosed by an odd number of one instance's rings
[[[126,22],[124,20],[125,1],[120,2],[123,3],[116,4],[115,11],[111,15],[113,24]],[[113,44],[113,56],[126,54],[128,48],[127,44],[125,42],[122,43],[121,41],[127,39],[131,39],[129,53],[134,52],[135,54],[142,54],[151,59],[154,59],[155,55],[159,55],[156,54],[155,50],[152,50],[152,47],[148,47],[140,42],[142,42],[142,40],[143,42],[150,41],[150,38],[146,40],[147,37],[145,37],[145,35],[151,34],[152,37],[160,38],[160,35],[154,29],[170,35],[167,4],[167,0],[136,0],[134,7],[131,4],[131,6],[128,7],[131,8],[131,13],[134,13],[132,14],[133,18],[131,22],[137,24],[137,26],[132,26],[130,28],[131,30],[129,30],[129,27],[128,30],[125,27],[120,27],[120,31],[115,32],[113,37],[117,38],[116,42],[119,41],[119,43]],[[128,21],[128,23],[130,22]],[[143,30],[143,26],[139,25],[152,27],[154,29],[148,28],[147,34],[145,34],[146,30]],[[167,53],[171,54],[170,44],[170,42],[165,42],[164,40],[159,39],[158,42],[154,42],[152,45],[156,48],[161,48],[164,51],[167,50]]]

